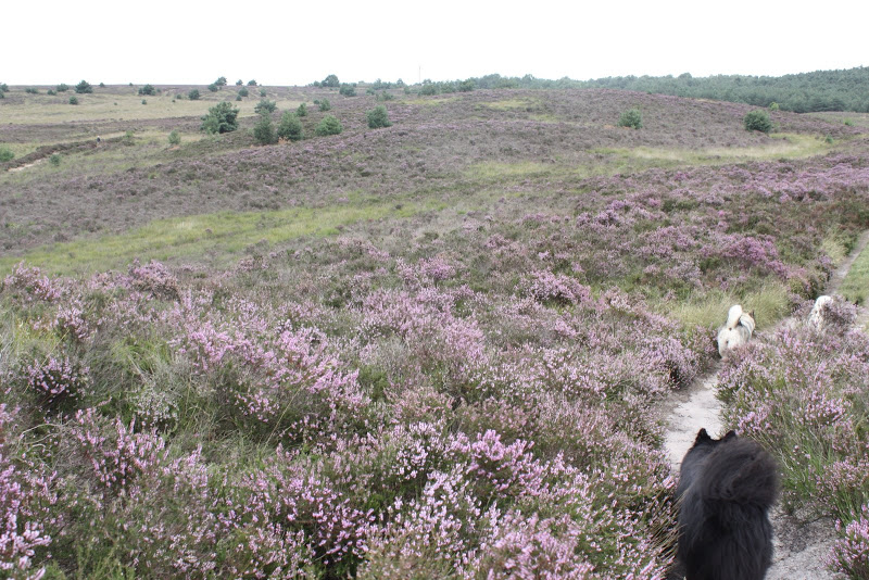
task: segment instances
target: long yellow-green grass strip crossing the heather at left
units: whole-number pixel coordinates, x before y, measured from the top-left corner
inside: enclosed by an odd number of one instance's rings
[[[333,236],[358,222],[405,218],[442,206],[437,200],[401,204],[356,200],[323,209],[219,212],[158,219],[119,235],[55,243],[23,256],[3,257],[0,272],[10,272],[22,260],[61,275],[118,268],[137,257],[143,262],[202,260],[227,266],[251,247],[274,247],[304,236]]]

